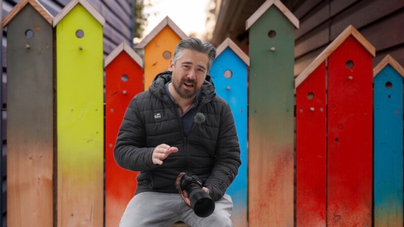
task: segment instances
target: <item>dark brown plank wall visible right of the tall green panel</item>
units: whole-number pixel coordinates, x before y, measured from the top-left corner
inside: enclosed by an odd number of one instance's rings
[[[353,25],[376,48],[373,66],[386,54],[404,65],[403,0],[282,1],[300,21],[295,31],[297,76],[348,25]]]

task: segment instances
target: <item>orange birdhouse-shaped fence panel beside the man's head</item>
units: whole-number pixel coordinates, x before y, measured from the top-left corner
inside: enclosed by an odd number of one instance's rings
[[[166,26],[144,47],[144,90],[157,74],[167,71],[179,41],[181,38]]]

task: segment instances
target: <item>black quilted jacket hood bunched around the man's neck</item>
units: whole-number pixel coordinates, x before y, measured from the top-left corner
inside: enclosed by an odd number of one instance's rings
[[[154,96],[168,101],[169,99],[166,94],[166,90],[164,89],[164,86],[166,83],[171,81],[171,77],[172,73],[169,71],[158,74],[153,80],[153,83],[149,86],[148,88],[149,91]],[[202,84],[200,91],[201,91],[201,102],[203,103],[209,102],[215,97],[216,95],[215,86],[213,84],[211,76],[206,75],[205,81]]]

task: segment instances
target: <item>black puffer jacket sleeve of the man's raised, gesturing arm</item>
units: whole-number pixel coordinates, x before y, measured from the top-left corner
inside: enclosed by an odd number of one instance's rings
[[[151,161],[154,147],[145,146],[145,124],[141,118],[135,96],[126,109],[115,144],[117,164],[130,171],[147,171],[156,167]]]

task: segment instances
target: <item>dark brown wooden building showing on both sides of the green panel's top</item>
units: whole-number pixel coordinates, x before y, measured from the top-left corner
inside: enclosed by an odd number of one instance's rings
[[[245,21],[266,0],[221,1],[212,42],[230,37],[248,54]],[[376,48],[376,66],[389,53],[404,65],[403,0],[281,0],[299,19],[295,31],[294,75],[297,76],[348,25],[353,25]],[[234,6],[234,5],[237,5]]]

